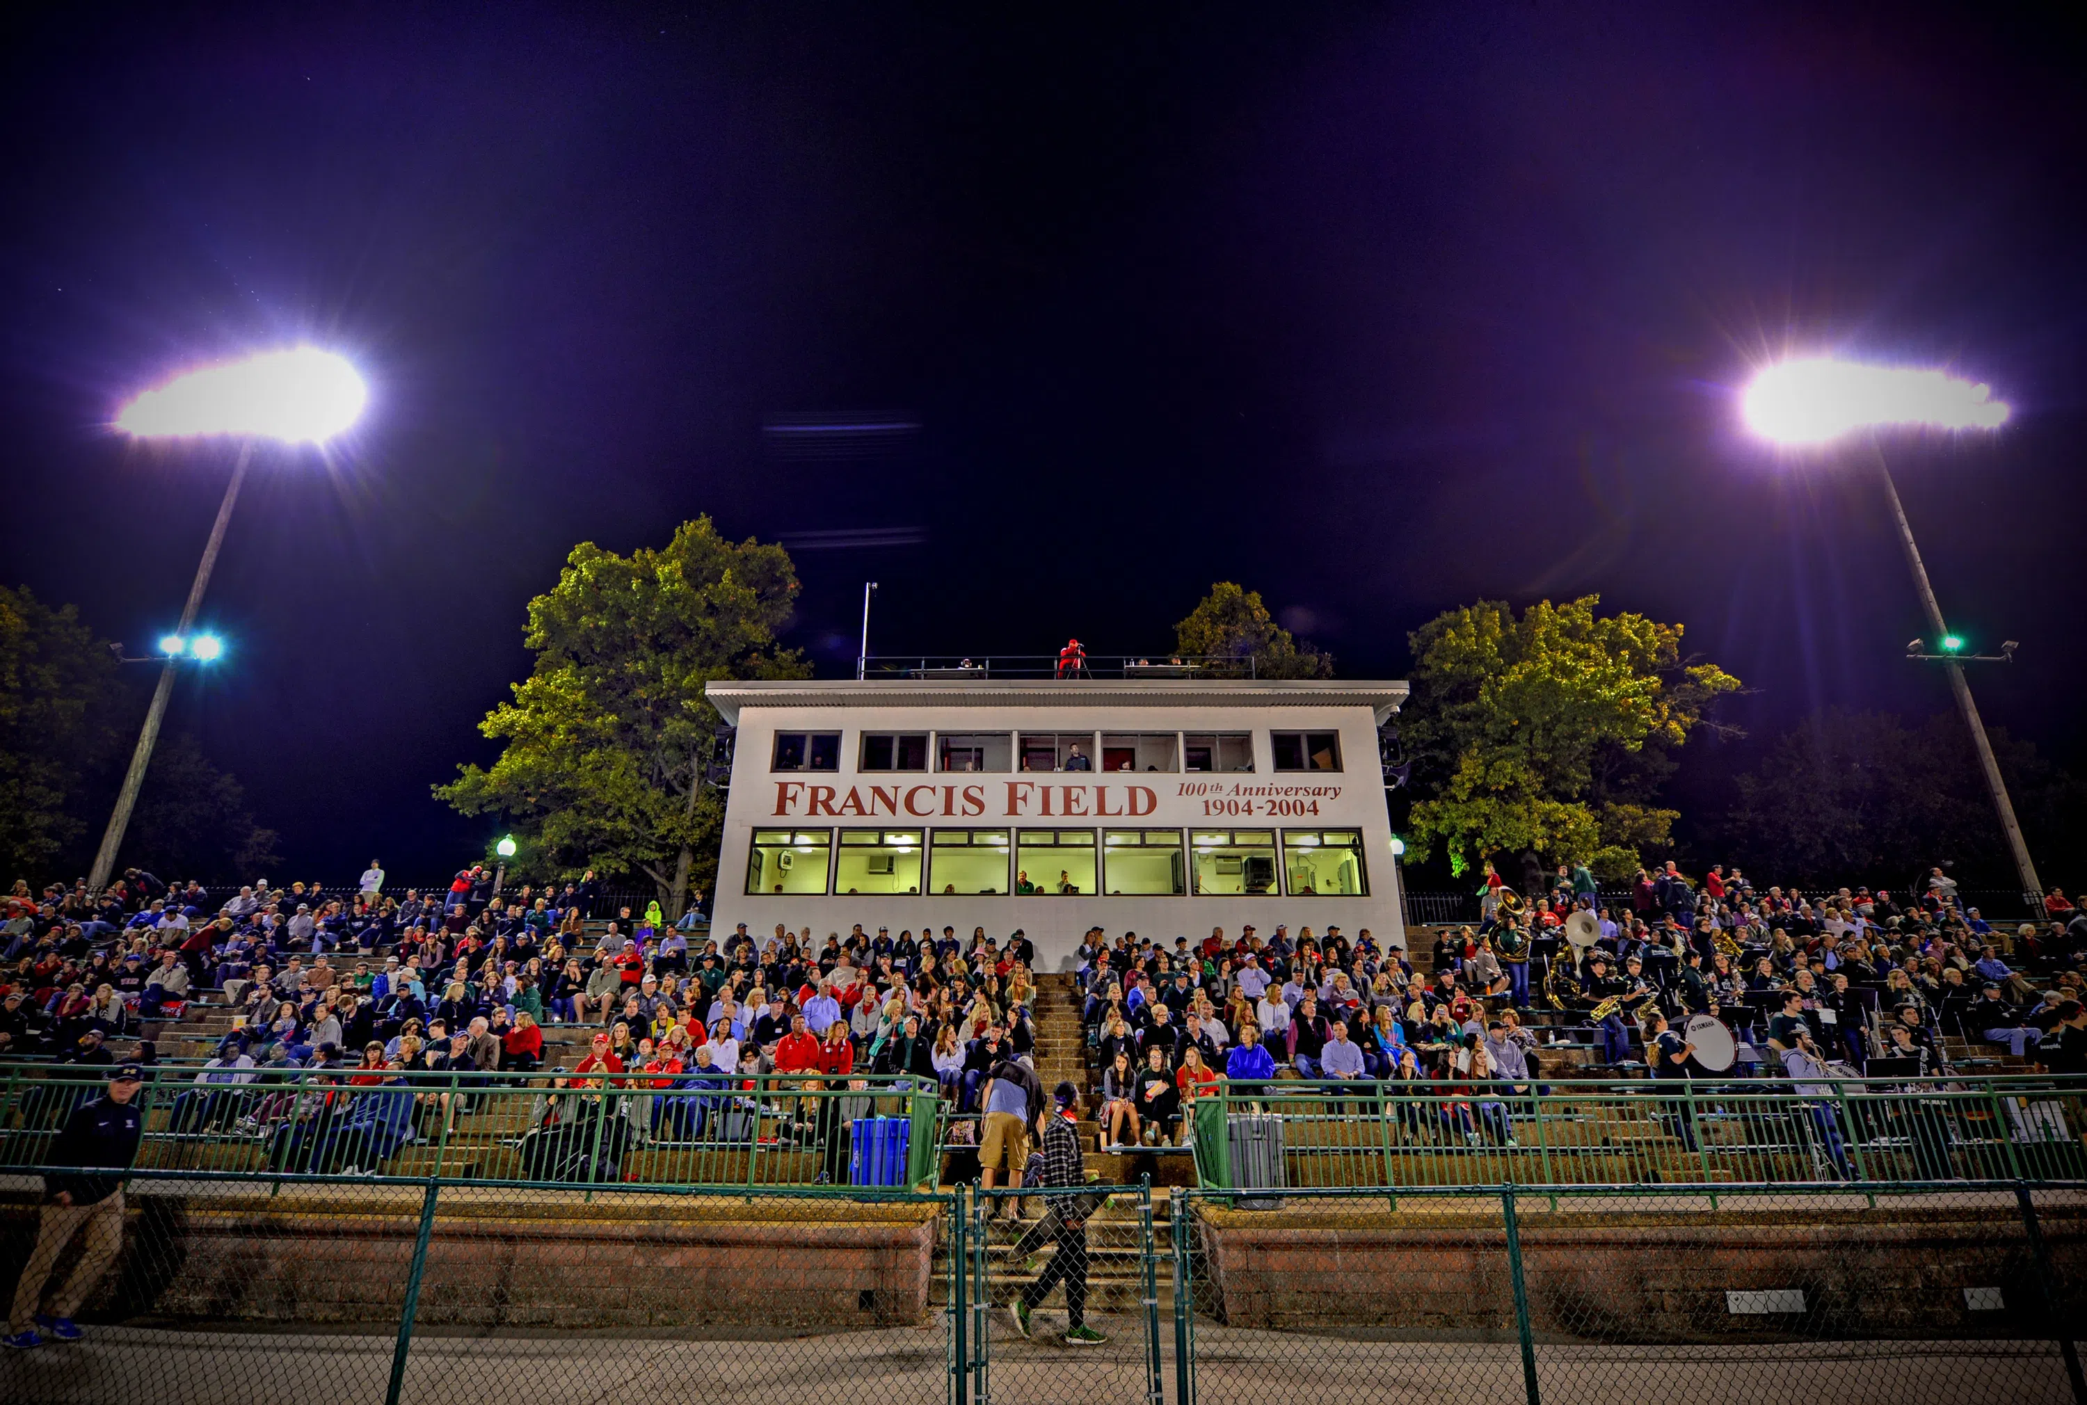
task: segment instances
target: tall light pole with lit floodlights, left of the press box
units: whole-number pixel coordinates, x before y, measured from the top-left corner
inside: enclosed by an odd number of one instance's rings
[[[225,543],[225,524],[232,522],[232,505],[240,497],[240,484],[246,482],[246,466],[253,461],[255,445],[263,438],[284,445],[323,445],[355,424],[367,399],[369,388],[344,357],[315,347],[294,347],[184,372],[167,384],[138,395],[117,413],[115,428],[131,438],[236,438],[240,445],[232,463],[232,482],[225,484],[225,497],[217,503],[217,522],[211,524],[211,539],[202,545],[196,578],[188,587],[188,603],[182,605],[182,622],[163,643],[186,641],[196,622],[196,610],[202,608],[202,591],[211,585],[211,570]],[[109,875],[115,873],[117,850],[123,846],[123,831],[129,829],[138,789],[144,785],[152,745],[159,741],[159,727],[167,716],[177,662],[179,651],[169,647],[167,662],[159,670],[159,687],[152,689],[152,706],[144,714],[144,729],[138,733],[138,747],[131,752],[129,770],[123,772],[123,789],[117,791],[109,829],[102,831],[102,848],[96,850],[94,868],[88,871],[88,891],[98,894],[109,885]]]

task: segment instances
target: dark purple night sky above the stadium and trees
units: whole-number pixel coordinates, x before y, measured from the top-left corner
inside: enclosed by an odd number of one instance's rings
[[[822,674],[866,578],[872,651],[935,653],[1158,653],[1233,578],[1346,676],[1442,608],[1599,591],[1684,622],[1755,731],[1937,712],[1874,478],[1734,428],[1751,365],[1839,349],[2016,405],[1893,466],[1951,624],[2022,643],[1987,718],[2087,762],[2074,33],[968,8],[0,21],[8,582],[146,649],[230,451],[129,449],[115,407],[349,351],[365,426],[263,455],[205,605],[232,653],[171,718],[328,881],[478,852],[428,785],[488,760],[526,599],[699,511],[799,547]]]

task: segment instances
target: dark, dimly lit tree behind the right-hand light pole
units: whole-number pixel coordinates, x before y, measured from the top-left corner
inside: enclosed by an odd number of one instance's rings
[[[1991,741],[2031,846],[2074,854],[2087,787],[2001,729]],[[1901,887],[1949,860],[1960,881],[2014,887],[1978,758],[1953,712],[1905,722],[1828,710],[1776,737],[1734,789],[1722,841],[1768,881]]]

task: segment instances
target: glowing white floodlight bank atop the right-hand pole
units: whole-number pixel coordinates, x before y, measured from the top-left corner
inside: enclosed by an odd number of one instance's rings
[[[1816,357],[1770,365],[1738,409],[1761,438],[1824,445],[1885,424],[1991,430],[2008,422],[2008,405],[1991,397],[1991,386],[1947,372]]]

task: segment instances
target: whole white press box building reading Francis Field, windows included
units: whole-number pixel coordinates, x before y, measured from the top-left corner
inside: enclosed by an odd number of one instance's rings
[[[737,729],[712,931],[1018,927],[1046,971],[1089,927],[1405,944],[1405,683],[952,672],[705,689]]]

